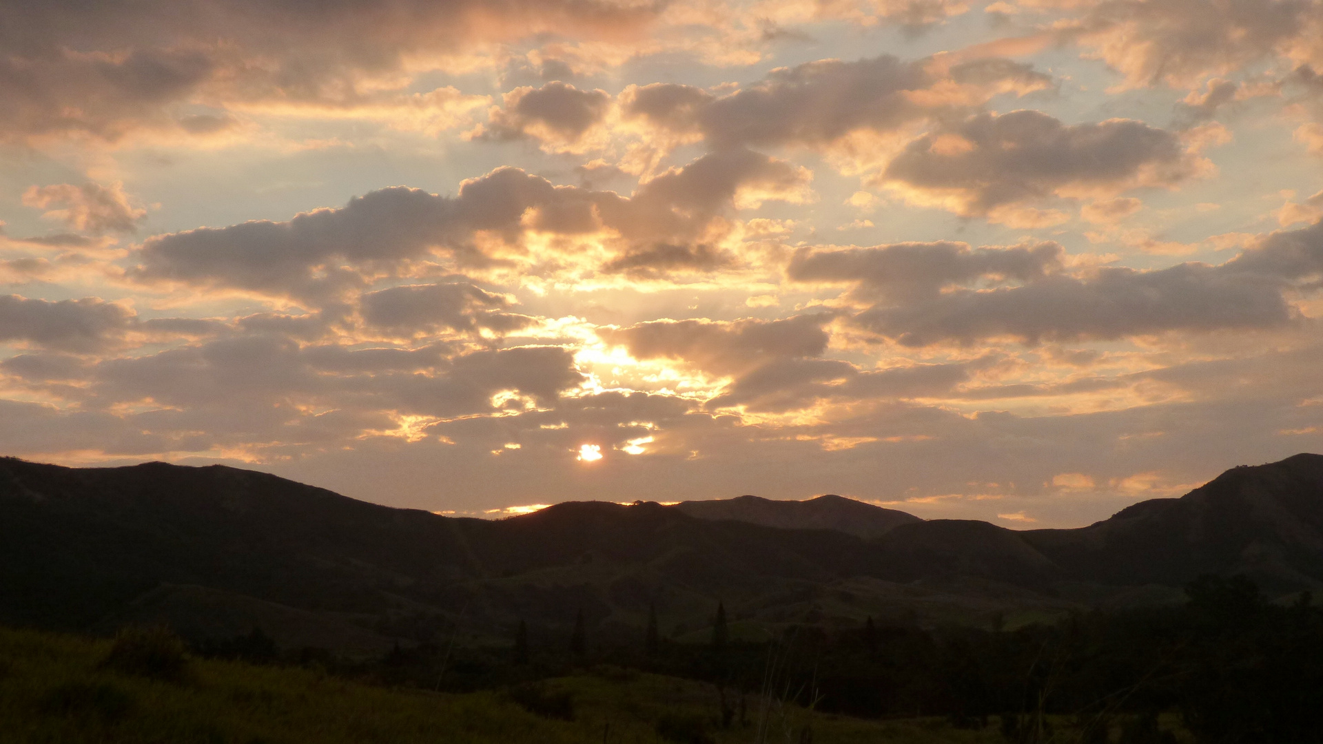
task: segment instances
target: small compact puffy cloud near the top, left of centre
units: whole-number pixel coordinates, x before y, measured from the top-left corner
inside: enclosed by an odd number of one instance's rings
[[[573,151],[611,103],[605,90],[579,90],[553,81],[542,87],[517,87],[504,97],[504,107],[493,107],[488,122],[471,136],[511,140],[536,138],[552,151]]]

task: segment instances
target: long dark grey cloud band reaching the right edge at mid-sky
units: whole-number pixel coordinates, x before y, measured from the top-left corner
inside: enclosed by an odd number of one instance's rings
[[[1323,222],[1271,233],[1220,266],[1102,267],[1080,277],[1061,273],[1054,244],[979,252],[960,244],[902,244],[893,256],[896,249],[803,250],[792,259],[790,275],[853,281],[852,297],[876,304],[851,322],[910,347],[992,338],[1037,344],[1274,328],[1301,318],[1287,293],[1323,289]],[[963,263],[950,262],[951,257]],[[875,270],[886,285],[877,285]],[[1023,285],[953,289],[984,278],[982,271]],[[909,281],[917,289],[905,287]]]

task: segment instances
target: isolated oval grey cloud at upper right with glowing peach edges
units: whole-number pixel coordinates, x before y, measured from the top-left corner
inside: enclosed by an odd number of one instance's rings
[[[880,180],[966,217],[1050,196],[1175,187],[1211,164],[1175,134],[1130,119],[1064,124],[1041,111],[978,114],[905,147]]]

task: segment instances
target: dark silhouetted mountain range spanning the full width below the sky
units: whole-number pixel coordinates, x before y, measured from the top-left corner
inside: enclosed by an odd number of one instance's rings
[[[0,622],[270,626],[284,645],[366,650],[459,630],[508,639],[520,620],[554,635],[581,610],[598,638],[635,638],[650,605],[684,638],[717,601],[734,630],[763,633],[1048,617],[1179,596],[1204,572],[1278,593],[1323,586],[1320,455],[1237,467],[1078,530],[922,522],[826,496],[703,503],[562,503],[493,522],[224,466],[0,458]],[[827,526],[839,527],[800,528]]]

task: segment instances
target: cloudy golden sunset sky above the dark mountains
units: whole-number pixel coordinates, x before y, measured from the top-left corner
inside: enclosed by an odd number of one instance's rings
[[[1323,1],[0,0],[0,453],[1077,527],[1323,451]]]

